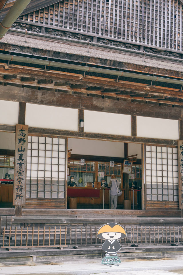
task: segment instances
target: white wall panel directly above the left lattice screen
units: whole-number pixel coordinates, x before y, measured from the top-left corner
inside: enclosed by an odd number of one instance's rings
[[[25,124],[30,127],[77,131],[78,110],[26,104]]]

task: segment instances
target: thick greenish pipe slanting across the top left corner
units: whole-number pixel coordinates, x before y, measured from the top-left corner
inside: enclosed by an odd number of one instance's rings
[[[9,10],[3,21],[0,23],[0,39],[11,28],[15,20],[20,16],[31,0],[17,0],[13,7]]]

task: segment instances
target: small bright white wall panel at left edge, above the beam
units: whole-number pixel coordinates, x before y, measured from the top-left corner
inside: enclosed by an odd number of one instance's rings
[[[18,123],[19,102],[0,100],[0,124],[15,125]]]

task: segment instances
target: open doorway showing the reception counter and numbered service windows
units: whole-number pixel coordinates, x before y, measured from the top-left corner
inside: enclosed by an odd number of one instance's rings
[[[142,209],[141,144],[128,143],[128,156],[137,155],[137,160],[132,163],[130,173],[127,175],[128,190],[123,173],[126,159],[124,143],[68,138],[68,150],[72,150],[67,161],[68,208],[110,209],[107,187],[112,174],[115,174],[123,191],[122,196],[118,197],[117,209],[124,209],[126,198],[130,200],[128,209]],[[73,184],[70,179],[73,180]]]

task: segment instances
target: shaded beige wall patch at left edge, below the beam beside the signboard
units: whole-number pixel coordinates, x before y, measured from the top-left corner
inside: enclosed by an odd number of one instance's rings
[[[15,150],[15,134],[0,132],[0,149]]]

